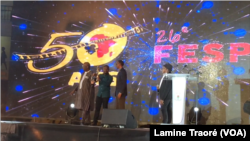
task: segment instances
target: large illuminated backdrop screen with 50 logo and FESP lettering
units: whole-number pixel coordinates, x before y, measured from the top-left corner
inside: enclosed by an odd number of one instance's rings
[[[249,124],[248,0],[26,0],[12,15],[8,116],[64,118],[83,73],[125,61],[126,109],[139,122],[161,122],[156,85],[166,62],[173,73],[202,72],[189,82],[186,111],[204,123]],[[76,79],[78,78],[78,79]],[[114,79],[116,81],[116,79]],[[109,107],[114,108],[115,82]],[[96,87],[96,92],[98,86]]]

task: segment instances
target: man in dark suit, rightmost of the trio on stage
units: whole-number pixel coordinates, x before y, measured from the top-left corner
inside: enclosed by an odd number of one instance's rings
[[[125,109],[125,98],[127,96],[127,72],[123,68],[124,62],[119,60],[116,62],[116,67],[119,69],[116,81],[116,109]]]

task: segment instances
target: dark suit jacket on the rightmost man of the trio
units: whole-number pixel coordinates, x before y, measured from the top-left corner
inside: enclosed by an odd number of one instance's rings
[[[127,96],[127,72],[124,68],[117,75],[115,96],[119,93],[122,93],[122,96]]]

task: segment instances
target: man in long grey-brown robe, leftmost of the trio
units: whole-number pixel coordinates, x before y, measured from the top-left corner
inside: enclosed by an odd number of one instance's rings
[[[84,74],[81,78],[79,86],[71,94],[76,92],[75,108],[80,110],[82,115],[81,124],[90,124],[90,111],[94,110],[94,98],[95,98],[95,81],[92,77],[96,76],[95,73],[90,71],[89,62],[83,64]]]

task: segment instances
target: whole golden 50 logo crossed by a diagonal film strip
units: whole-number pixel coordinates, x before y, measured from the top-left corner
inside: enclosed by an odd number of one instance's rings
[[[35,73],[48,73],[66,66],[72,60],[74,50],[77,50],[77,57],[81,63],[89,62],[92,66],[99,66],[119,56],[127,44],[128,36],[139,34],[142,31],[143,28],[139,26],[125,31],[122,27],[115,24],[103,24],[102,27],[86,34],[74,46],[52,43],[59,37],[82,35],[81,32],[54,33],[51,34],[50,40],[42,48],[41,54],[15,55],[19,56],[20,60],[28,60],[28,69]],[[65,54],[65,57],[54,66],[46,68],[37,68],[35,66],[36,59],[57,57],[62,54]]]

